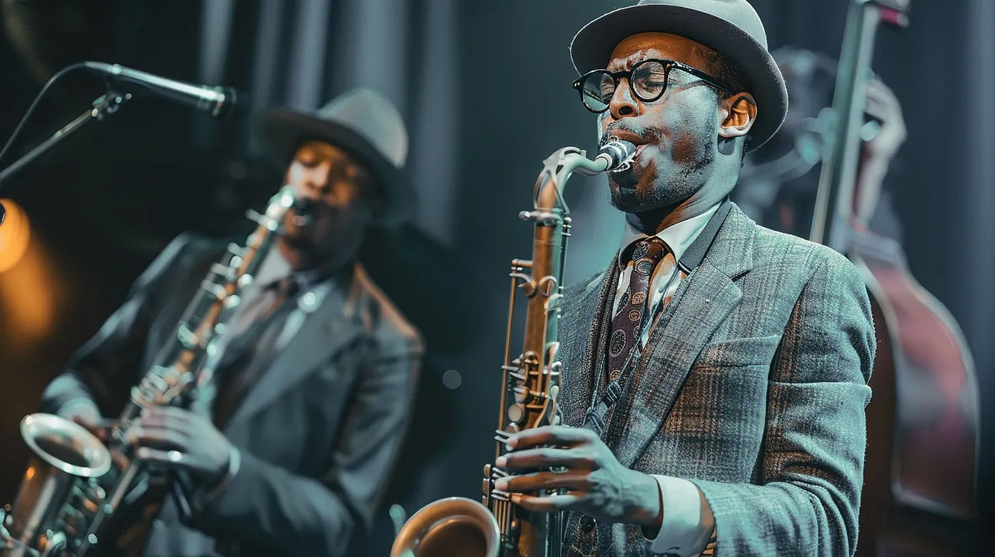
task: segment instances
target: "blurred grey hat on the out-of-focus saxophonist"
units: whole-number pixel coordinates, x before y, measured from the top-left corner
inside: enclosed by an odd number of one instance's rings
[[[408,132],[401,113],[367,88],[346,91],[312,113],[270,108],[259,118],[260,134],[278,164],[286,165],[311,139],[340,147],[364,165],[383,194],[378,224],[397,225],[414,211],[415,190],[404,174]]]

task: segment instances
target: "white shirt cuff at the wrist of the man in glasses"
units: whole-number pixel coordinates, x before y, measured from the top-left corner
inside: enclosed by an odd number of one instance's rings
[[[654,476],[664,501],[664,521],[650,545],[658,555],[679,557],[699,555],[708,544],[715,520],[707,503],[703,503],[697,486],[670,476]]]

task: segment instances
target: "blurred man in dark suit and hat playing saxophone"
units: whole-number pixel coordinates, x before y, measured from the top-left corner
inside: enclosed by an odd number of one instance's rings
[[[356,89],[260,124],[298,205],[227,323],[214,379],[189,408],[145,408],[123,432],[134,459],[194,480],[190,520],[167,498],[121,536],[146,557],[345,554],[409,420],[421,335],[357,262],[367,228],[400,223],[414,201],[400,114]],[[102,417],[170,342],[224,247],[174,240],[48,386],[43,410],[105,438]]]

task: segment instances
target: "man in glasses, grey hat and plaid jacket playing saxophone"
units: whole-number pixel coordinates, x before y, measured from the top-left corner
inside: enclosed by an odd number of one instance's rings
[[[568,511],[564,557],[853,555],[864,282],[727,200],[787,111],[763,24],[746,0],[641,0],[585,26],[571,56],[599,134],[637,146],[609,175],[626,237],[563,292],[566,425],[510,434],[495,488]]]

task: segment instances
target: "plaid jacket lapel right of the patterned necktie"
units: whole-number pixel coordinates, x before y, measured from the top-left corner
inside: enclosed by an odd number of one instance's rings
[[[660,431],[698,353],[739,304],[742,291],[733,279],[753,266],[755,228],[733,207],[654,329],[630,385],[635,394],[616,453],[623,466],[631,467]]]

